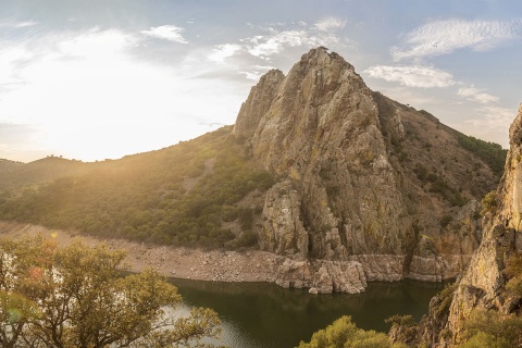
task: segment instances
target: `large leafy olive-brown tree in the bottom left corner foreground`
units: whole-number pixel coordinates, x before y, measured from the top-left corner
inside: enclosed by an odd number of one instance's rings
[[[157,272],[122,276],[121,250],[39,237],[0,250],[1,347],[198,347],[220,334],[210,309],[170,315],[182,298]]]

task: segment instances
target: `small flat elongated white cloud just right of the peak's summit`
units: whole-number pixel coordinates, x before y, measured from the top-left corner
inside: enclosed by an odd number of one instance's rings
[[[451,74],[430,66],[375,65],[364,71],[370,77],[398,82],[408,87],[448,87],[455,84]]]

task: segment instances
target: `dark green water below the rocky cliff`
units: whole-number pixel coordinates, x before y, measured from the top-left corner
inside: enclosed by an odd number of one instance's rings
[[[341,315],[361,328],[387,332],[394,314],[427,313],[430,299],[444,284],[402,281],[371,283],[358,295],[310,295],[265,283],[212,283],[172,279],[189,306],[214,309],[228,347],[295,347]]]

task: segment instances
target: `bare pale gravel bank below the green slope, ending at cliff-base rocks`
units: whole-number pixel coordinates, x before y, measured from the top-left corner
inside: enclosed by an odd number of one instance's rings
[[[100,244],[125,250],[124,264],[130,272],[154,269],[160,274],[177,278],[212,282],[275,282],[277,268],[284,258],[264,251],[224,251],[150,246],[124,239],[101,239],[44,226],[0,222],[0,237],[36,236],[67,246],[82,240],[87,246]]]

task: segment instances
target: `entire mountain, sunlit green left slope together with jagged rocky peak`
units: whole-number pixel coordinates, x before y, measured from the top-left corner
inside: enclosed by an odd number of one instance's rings
[[[455,277],[482,238],[506,151],[370,90],[319,48],[271,71],[236,124],[162,150],[0,172],[0,220],[104,238],[259,248],[282,286]],[[51,162],[52,161],[52,162]]]

